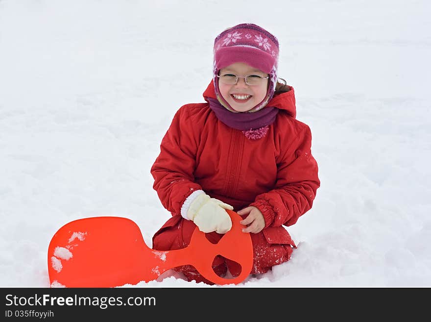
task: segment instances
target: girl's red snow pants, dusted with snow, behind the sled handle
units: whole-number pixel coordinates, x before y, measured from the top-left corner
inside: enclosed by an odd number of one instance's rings
[[[154,234],[152,248],[156,250],[185,248],[190,243],[195,227],[196,225],[192,221],[182,218],[181,215],[173,216]],[[216,244],[223,237],[223,234],[216,232],[206,233],[205,235],[213,244]],[[296,248],[284,227],[267,227],[257,234],[251,233],[250,235],[253,244],[253,268],[250,272],[251,274],[262,274],[271,270],[274,265],[287,262],[293,248]],[[241,267],[238,263],[220,255],[214,259],[213,270],[219,276],[224,276],[227,270],[234,277],[241,273]],[[214,284],[200,275],[192,265],[179,266],[174,271],[182,272],[188,281],[194,280],[196,283]]]

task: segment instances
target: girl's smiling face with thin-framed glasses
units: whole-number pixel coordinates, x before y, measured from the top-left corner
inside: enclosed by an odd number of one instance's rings
[[[234,74],[237,76],[259,75],[266,77],[268,74],[251,67],[245,63],[233,63],[220,70],[219,75]],[[222,78],[218,80],[218,90],[221,96],[237,112],[246,112],[259,104],[266,96],[268,78],[262,79],[259,85],[248,85],[245,78],[238,78],[234,85],[225,84]]]

